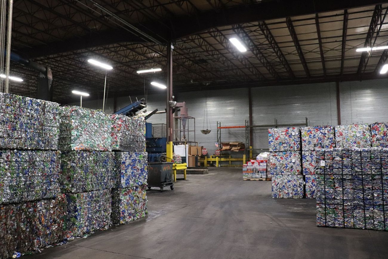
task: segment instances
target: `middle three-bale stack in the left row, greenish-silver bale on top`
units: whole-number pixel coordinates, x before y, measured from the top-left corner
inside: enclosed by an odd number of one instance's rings
[[[59,146],[63,151],[60,184],[66,193],[66,236],[71,238],[108,228],[115,161],[112,122],[102,111],[78,106],[61,111]]]

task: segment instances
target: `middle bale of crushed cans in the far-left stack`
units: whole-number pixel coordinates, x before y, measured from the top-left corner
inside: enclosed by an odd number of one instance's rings
[[[0,150],[0,204],[59,195],[60,163],[59,151]]]

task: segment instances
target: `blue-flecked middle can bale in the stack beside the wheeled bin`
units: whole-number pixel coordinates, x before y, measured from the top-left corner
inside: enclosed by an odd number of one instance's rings
[[[116,187],[147,184],[147,152],[114,152],[117,161]]]

